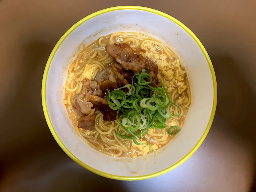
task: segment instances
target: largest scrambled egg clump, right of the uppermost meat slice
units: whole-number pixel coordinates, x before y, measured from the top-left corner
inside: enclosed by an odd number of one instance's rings
[[[167,55],[160,54],[153,43],[147,42],[144,44],[143,49],[146,50],[146,53],[143,56],[151,58],[158,66],[159,71],[163,74],[166,82],[165,86],[167,91],[170,93],[173,89],[178,89],[178,93],[183,93],[187,86],[184,82],[184,76],[186,71],[181,69],[179,59],[170,59],[168,63],[166,61]]]

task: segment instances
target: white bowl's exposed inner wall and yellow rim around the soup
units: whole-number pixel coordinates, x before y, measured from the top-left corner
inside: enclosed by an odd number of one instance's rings
[[[85,45],[100,36],[135,31],[169,46],[184,63],[192,101],[183,129],[156,156],[115,158],[100,153],[76,134],[63,105],[64,85],[70,62]],[[121,6],[93,13],[72,26],[54,47],[45,67],[42,103],[54,138],[79,165],[104,177],[140,180],[166,173],[185,162],[205,139],[217,104],[214,69],[202,43],[181,22],[160,11]],[[135,174],[136,173],[136,174]]]

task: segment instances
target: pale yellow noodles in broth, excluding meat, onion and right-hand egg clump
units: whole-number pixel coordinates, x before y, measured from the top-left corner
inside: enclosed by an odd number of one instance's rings
[[[77,94],[81,94],[83,88],[83,79],[89,78],[90,80],[94,80],[99,72],[105,70],[106,67],[111,67],[111,65],[116,62],[116,60],[111,57],[105,49],[107,44],[113,45],[114,43],[127,43],[134,50],[137,50],[139,47],[148,50],[149,45],[154,46],[157,49],[156,51],[162,52],[163,54],[166,54],[168,58],[171,58],[170,65],[179,66],[178,73],[183,73],[185,67],[180,62],[179,58],[162,42],[147,37],[146,35],[132,32],[118,32],[110,34],[108,37],[100,37],[89,47],[83,49],[78,54],[74,62],[71,63],[68,69],[64,100],[69,112],[69,116],[71,119],[73,119],[73,122],[75,122],[74,127],[76,133],[90,147],[98,151],[102,151],[104,154],[111,155],[113,157],[132,157],[132,150],[138,149],[134,147],[132,140],[119,138],[117,134],[118,129],[121,131],[122,135],[131,136],[131,134],[126,133],[126,131],[124,131],[119,126],[116,120],[112,122],[106,122],[103,120],[103,114],[100,111],[95,111],[95,129],[93,131],[82,130],[81,128],[77,127],[77,121],[81,116],[76,113],[77,110],[73,108],[74,106],[72,104],[74,97]],[[140,53],[144,56],[144,53]],[[89,76],[88,72],[90,73]],[[161,74],[159,70],[158,78],[162,79],[163,82],[168,83],[168,81],[164,79],[163,74]],[[173,103],[175,103],[175,105],[178,105],[178,99],[181,96],[184,96],[184,94],[187,96],[187,103],[183,103],[183,105],[179,106],[181,115],[178,117],[172,116],[170,119],[167,119],[167,127],[164,129],[150,128],[148,132],[145,133],[145,135],[140,136],[140,139],[143,142],[146,140],[150,145],[157,144],[158,147],[162,147],[166,145],[173,137],[173,135],[170,136],[167,134],[167,129],[170,127],[170,125],[175,125],[178,126],[179,129],[182,129],[184,125],[184,119],[187,114],[187,109],[191,103],[189,82],[187,79],[184,81],[187,85],[187,89],[183,95],[178,93],[177,88],[171,88],[171,92],[169,93],[170,99]],[[179,108],[175,105],[170,104],[169,109],[173,114],[178,114]],[[146,145],[141,146],[142,149],[145,146]]]

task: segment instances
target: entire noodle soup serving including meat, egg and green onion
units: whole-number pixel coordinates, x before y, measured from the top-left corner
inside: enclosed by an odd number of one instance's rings
[[[89,146],[114,157],[145,156],[182,129],[191,103],[186,70],[166,45],[112,33],[71,64],[63,103]]]

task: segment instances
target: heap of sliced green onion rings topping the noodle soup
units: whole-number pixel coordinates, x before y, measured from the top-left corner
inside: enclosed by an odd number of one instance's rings
[[[107,90],[107,102],[111,109],[117,110],[117,135],[122,139],[132,139],[136,145],[148,145],[142,143],[142,136],[148,133],[149,128],[164,129],[166,128],[166,119],[171,116],[177,117],[181,115],[181,109],[175,105],[168,95],[168,92],[159,79],[162,87],[157,86],[152,77],[145,69],[141,74],[137,73],[132,78],[132,84],[125,85],[114,91]],[[152,86],[155,87],[152,87]],[[123,89],[127,89],[126,93]],[[169,105],[178,107],[179,114],[171,114]],[[121,113],[119,115],[119,113]],[[120,132],[122,128],[128,135]],[[175,135],[179,131],[179,127],[171,126],[167,133]],[[138,142],[139,141],[139,142]],[[150,148],[155,150],[150,146]]]

